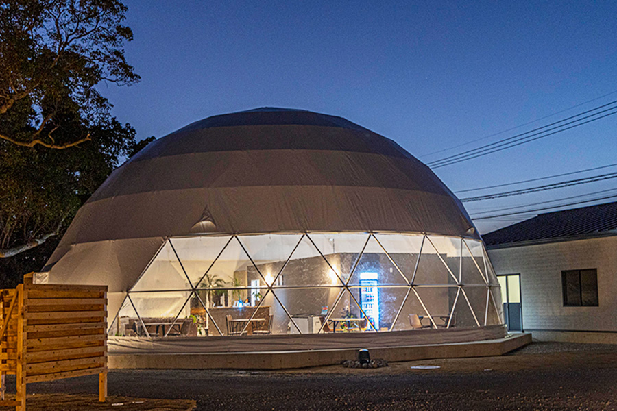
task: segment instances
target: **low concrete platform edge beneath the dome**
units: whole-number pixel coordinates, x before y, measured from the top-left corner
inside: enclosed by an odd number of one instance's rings
[[[531,334],[471,343],[441,343],[399,347],[366,347],[372,358],[388,362],[432,358],[501,356],[531,343]],[[110,369],[298,369],[340,364],[356,358],[358,348],[303,349],[289,351],[244,351],[208,353],[110,353]]]

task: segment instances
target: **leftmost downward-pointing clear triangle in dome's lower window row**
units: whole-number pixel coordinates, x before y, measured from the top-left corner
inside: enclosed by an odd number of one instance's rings
[[[129,298],[141,317],[147,334],[151,337],[161,337],[167,334],[176,316],[189,316],[189,305],[186,304],[189,295],[190,291],[181,290],[130,292]]]

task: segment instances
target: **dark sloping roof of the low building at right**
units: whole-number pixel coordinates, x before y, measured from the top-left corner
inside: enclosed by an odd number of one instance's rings
[[[482,236],[487,248],[518,245],[520,242],[564,240],[581,236],[617,235],[617,201],[538,214]]]

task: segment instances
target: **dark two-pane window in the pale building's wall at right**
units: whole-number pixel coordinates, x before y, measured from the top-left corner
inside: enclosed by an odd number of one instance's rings
[[[564,307],[598,306],[598,272],[590,270],[561,271]]]

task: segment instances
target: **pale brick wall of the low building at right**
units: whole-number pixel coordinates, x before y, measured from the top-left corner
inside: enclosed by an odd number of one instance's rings
[[[494,249],[489,258],[498,275],[520,273],[526,331],[617,332],[617,236]],[[577,269],[597,269],[598,307],[564,307],[561,271]]]

